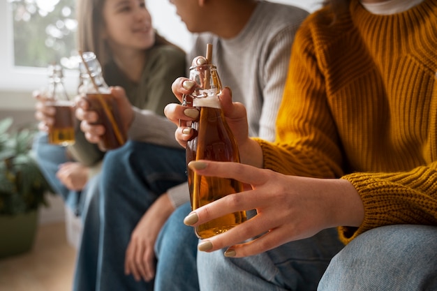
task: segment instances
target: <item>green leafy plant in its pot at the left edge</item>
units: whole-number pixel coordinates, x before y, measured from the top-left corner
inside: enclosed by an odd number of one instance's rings
[[[32,156],[36,130],[10,130],[12,124],[12,118],[0,121],[0,258],[31,249],[38,208],[52,193]]]

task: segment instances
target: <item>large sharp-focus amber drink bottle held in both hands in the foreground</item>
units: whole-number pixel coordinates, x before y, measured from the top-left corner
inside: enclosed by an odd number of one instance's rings
[[[212,64],[193,66],[190,68],[190,79],[198,85],[191,97],[193,107],[200,111],[200,118],[191,124],[195,134],[186,146],[186,163],[197,160],[239,163],[237,142],[225,121],[218,99],[221,81],[216,67]],[[235,179],[205,177],[190,168],[188,187],[193,210],[243,190],[242,183]],[[246,212],[238,211],[198,225],[195,227],[195,234],[200,239],[206,239],[230,230],[244,221]]]

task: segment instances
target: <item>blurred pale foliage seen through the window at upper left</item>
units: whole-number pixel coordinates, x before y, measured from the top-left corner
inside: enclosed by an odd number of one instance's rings
[[[8,0],[12,9],[15,66],[73,68],[75,0]]]

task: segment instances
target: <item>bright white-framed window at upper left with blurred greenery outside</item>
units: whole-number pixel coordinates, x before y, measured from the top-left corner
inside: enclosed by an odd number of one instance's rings
[[[68,57],[74,47],[74,2],[0,1],[0,31],[6,40],[0,46],[1,91],[29,92],[46,84],[48,64]],[[71,91],[77,87],[77,75],[75,70],[66,71],[66,86]],[[0,96],[2,104],[3,98],[8,96]]]

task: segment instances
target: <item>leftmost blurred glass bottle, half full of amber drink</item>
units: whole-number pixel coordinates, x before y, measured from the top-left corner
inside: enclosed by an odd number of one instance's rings
[[[55,64],[48,67],[49,84],[45,88],[45,105],[53,106],[54,123],[48,128],[48,142],[61,146],[75,143],[75,103],[64,87],[64,72]]]

